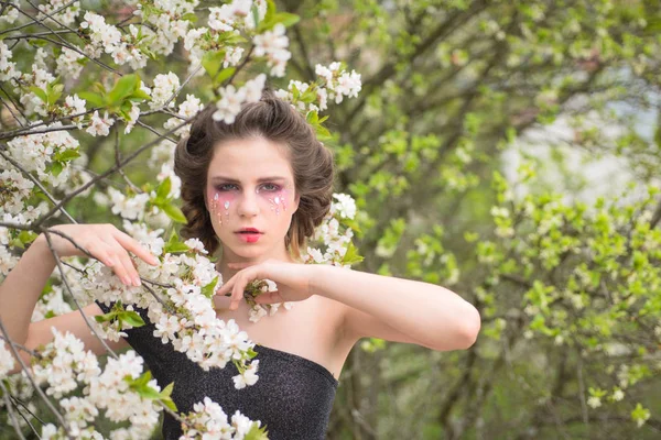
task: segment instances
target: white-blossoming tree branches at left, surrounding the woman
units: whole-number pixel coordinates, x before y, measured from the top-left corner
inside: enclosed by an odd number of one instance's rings
[[[122,330],[144,324],[138,309],[147,310],[156,340],[204,370],[232,363],[237,388],[259,380],[254,344],[234,320],[216,318],[210,298],[223,279],[213,258],[199,240],[177,237],[175,227],[185,217],[177,208],[173,148],[207,106],[215,108],[214,119],[232,123],[241,105],[260,99],[268,77],[284,86],[277,95],[328,139],[319,113],[356,97],[360,75],[334,62],[317,65],[313,81],[283,82],[291,57],[286,28],[297,21],[270,0],[217,7],[196,0],[115,2],[105,10],[84,9],[78,1],[2,3],[0,275],[7,276],[40,233],[57,262],[33,321],[95,299],[113,302],[110,312],[86,322],[101,340],[118,340]],[[106,168],[95,173],[95,161]],[[150,172],[127,170],[138,161]],[[82,198],[91,198],[96,211],[80,209]],[[335,195],[305,261],[348,267],[360,261],[350,245],[354,215],[353,199]],[[56,254],[51,234],[76,240],[47,224],[94,218],[117,222],[156,256],[155,266],[138,263],[141,286],[121,283],[107,262],[84,249],[88,257]],[[273,287],[256,282],[247,299]],[[252,320],[279,307],[250,304]],[[130,422],[104,433],[109,438],[150,438],[161,410],[181,421],[187,439],[267,438],[259,420],[225,414],[208,398],[180,414],[170,398],[173,384],[160,387],[136,352],[118,355],[106,345],[109,358],[101,369],[82,341],[54,328],[53,341],[32,352],[30,364],[21,361],[20,375],[8,377],[18,351],[28,349],[11,340],[1,321],[0,330],[2,405],[21,438],[26,429],[42,439],[102,438],[95,428],[101,416]],[[33,425],[41,421],[37,399],[55,422]]]

